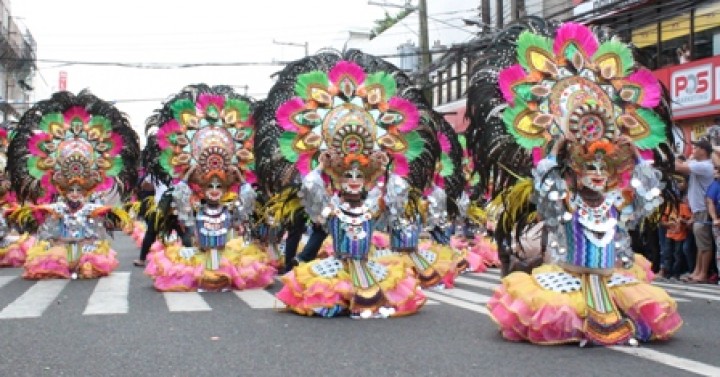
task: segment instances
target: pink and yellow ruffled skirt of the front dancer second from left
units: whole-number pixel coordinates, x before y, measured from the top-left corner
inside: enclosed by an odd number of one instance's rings
[[[155,242],[147,261],[145,274],[162,292],[264,288],[277,273],[265,250],[239,238],[215,253]]]

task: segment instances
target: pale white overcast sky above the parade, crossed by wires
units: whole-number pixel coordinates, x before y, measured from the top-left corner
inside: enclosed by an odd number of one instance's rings
[[[350,30],[369,31],[385,11],[400,10],[370,5],[368,0],[11,0],[10,4],[12,16],[37,43],[32,100],[56,91],[59,72],[65,71],[69,91],[88,88],[102,99],[116,101],[141,136],[145,119],[185,85],[232,85],[239,93],[262,99],[273,84],[270,76],[283,67],[280,62],[302,58],[306,42],[310,54],[324,47],[342,49]],[[176,67],[193,63],[244,65]]]

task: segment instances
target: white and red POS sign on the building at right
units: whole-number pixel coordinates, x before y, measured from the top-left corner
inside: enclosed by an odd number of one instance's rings
[[[703,64],[674,71],[670,76],[673,108],[707,105],[713,99],[713,65]]]

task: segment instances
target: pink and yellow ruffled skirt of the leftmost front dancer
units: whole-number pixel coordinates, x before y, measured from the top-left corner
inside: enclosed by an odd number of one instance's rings
[[[96,279],[110,275],[118,264],[117,253],[107,240],[78,245],[75,252],[69,245],[40,241],[28,250],[23,278]]]

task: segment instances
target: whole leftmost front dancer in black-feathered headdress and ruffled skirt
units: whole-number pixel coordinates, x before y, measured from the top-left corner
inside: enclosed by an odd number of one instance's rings
[[[30,202],[11,216],[40,240],[23,277],[98,278],[117,266],[107,230],[127,224],[99,198],[128,193],[137,179],[137,135],[110,103],[87,91],[55,93],[20,119],[8,151],[13,188]]]

